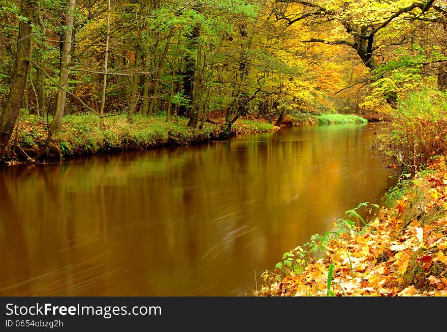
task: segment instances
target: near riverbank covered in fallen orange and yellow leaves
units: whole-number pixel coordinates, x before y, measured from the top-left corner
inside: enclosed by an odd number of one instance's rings
[[[387,206],[361,204],[284,253],[254,296],[447,296],[445,158],[401,177]]]

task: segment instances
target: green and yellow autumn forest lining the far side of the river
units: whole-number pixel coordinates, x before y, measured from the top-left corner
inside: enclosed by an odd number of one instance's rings
[[[168,133],[179,131],[169,122],[218,124],[209,136],[240,118],[388,119],[411,93],[447,87],[446,11],[442,1],[2,1],[0,154],[94,151],[135,128],[147,140],[153,122]]]

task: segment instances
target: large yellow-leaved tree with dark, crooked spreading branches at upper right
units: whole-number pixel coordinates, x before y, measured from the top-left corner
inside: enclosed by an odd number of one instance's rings
[[[325,43],[332,45],[346,45],[355,50],[364,65],[375,71],[379,65],[374,52],[386,46],[398,45],[399,40],[389,40],[388,44],[381,45],[377,40],[384,42],[381,35],[391,24],[402,23],[408,25],[414,20],[421,18],[434,6],[435,0],[429,1],[380,1],[380,0],[356,0],[356,1],[294,1],[279,0],[273,6],[273,11],[278,20],[290,26],[298,21],[306,20],[315,26],[319,24],[326,28],[328,38],[312,37],[303,41],[306,43]],[[292,8],[289,6],[292,4]],[[321,20],[320,18],[324,18]],[[337,28],[336,25],[339,24]],[[328,33],[328,27],[332,31],[339,31],[338,35]],[[344,31],[340,29],[342,27]],[[318,33],[318,32],[317,32]],[[382,79],[383,76],[375,76],[374,80]],[[387,102],[396,106],[397,93],[395,90],[384,90]]]

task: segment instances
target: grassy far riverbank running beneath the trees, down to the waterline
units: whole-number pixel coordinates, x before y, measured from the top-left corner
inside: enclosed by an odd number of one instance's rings
[[[303,115],[307,123],[361,123],[367,120],[354,115]],[[328,120],[329,119],[329,120]],[[230,133],[224,133],[225,119],[210,118],[198,128],[187,126],[188,119],[164,116],[135,116],[130,124],[124,115],[100,119],[95,115],[69,115],[62,129],[53,135],[41,162],[70,159],[110,151],[145,150],[157,146],[188,145],[240,134],[274,132],[280,127],[267,119],[238,119]],[[22,115],[3,156],[7,164],[34,163],[47,137],[48,121],[33,115]],[[304,123],[304,122],[301,122]],[[282,126],[298,125],[284,121]]]

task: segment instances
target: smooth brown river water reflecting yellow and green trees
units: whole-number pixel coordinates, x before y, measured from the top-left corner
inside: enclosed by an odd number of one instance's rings
[[[250,295],[283,252],[379,202],[377,126],[0,169],[0,296]]]

